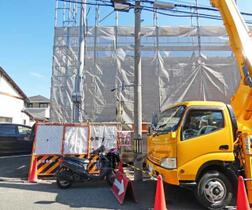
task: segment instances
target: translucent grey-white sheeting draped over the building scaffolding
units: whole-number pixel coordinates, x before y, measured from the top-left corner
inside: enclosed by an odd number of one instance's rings
[[[52,121],[73,118],[78,33],[78,27],[55,28]],[[143,27],[141,33],[143,121],[176,102],[230,102],[240,76],[223,27],[202,26],[199,31],[195,27]],[[88,29],[81,84],[83,121],[133,122],[133,44],[133,27]]]

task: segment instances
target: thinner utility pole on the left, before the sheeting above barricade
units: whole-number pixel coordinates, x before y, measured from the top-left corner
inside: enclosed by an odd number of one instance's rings
[[[82,73],[84,69],[84,30],[85,30],[85,16],[86,16],[86,0],[81,1],[80,7],[80,30],[79,30],[79,51],[78,51],[78,66],[75,76],[74,92],[72,94],[73,102],[73,122],[80,122],[81,113],[81,92],[80,85],[82,79]]]

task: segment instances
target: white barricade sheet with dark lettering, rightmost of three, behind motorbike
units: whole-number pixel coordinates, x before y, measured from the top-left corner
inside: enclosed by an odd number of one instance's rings
[[[92,125],[91,126],[91,151],[101,145],[106,150],[117,148],[117,127],[111,125]]]

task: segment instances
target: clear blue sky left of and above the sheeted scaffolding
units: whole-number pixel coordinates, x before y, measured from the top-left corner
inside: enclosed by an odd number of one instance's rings
[[[164,0],[163,0],[164,1]],[[167,1],[172,2],[172,1]],[[194,3],[177,0],[176,3]],[[200,5],[209,6],[208,0]],[[54,0],[0,0],[0,66],[16,81],[27,96],[50,96],[54,28]],[[241,11],[252,13],[251,0],[238,0]],[[101,11],[101,18],[111,8]],[[113,25],[114,16],[102,24]],[[152,25],[152,14],[143,12],[143,25]],[[94,8],[89,13],[89,24],[94,20]],[[120,25],[132,25],[133,13],[122,14]],[[252,17],[250,17],[252,20]],[[160,16],[160,25],[187,25],[190,18]],[[201,20],[201,25],[222,24],[220,21]]]

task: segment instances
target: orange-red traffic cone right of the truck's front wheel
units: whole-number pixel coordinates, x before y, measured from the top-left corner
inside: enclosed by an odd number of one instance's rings
[[[238,191],[237,191],[237,210],[250,210],[247,192],[244,185],[242,176],[238,178]]]

